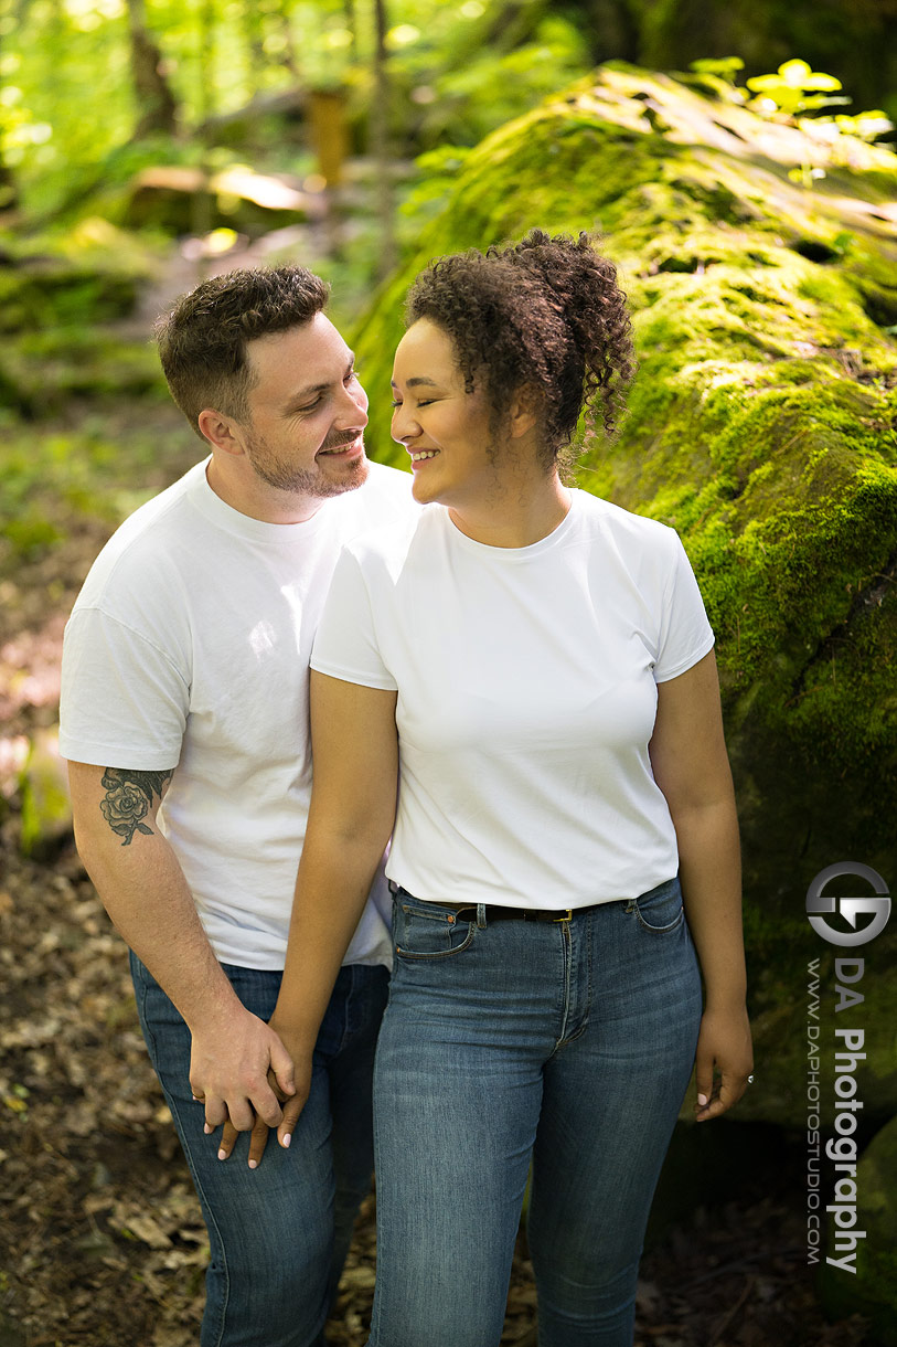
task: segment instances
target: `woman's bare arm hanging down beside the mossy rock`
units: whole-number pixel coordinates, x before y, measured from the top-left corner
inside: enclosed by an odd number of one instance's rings
[[[704,979],[695,1055],[696,1119],[704,1122],[742,1096],[753,1067],[745,1009],[738,818],[712,651],[686,674],[657,686],[649,753],[676,828],[686,913]],[[717,1096],[714,1067],[721,1075]]]

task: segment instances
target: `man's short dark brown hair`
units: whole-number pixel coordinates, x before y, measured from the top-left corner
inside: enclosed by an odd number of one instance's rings
[[[175,403],[199,438],[213,407],[249,420],[253,376],[246,343],[310,322],[330,287],[304,267],[259,267],[213,276],[182,295],[155,323],[162,368]]]

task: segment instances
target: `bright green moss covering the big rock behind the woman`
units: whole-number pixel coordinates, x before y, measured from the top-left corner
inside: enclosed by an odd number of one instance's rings
[[[358,325],[369,438],[401,462],[383,404],[419,265],[533,224],[601,225],[626,277],[641,369],[620,443],[590,451],[579,480],[687,537],[729,714],[750,707],[813,761],[859,764],[897,733],[889,663],[869,661],[873,628],[859,621],[897,550],[897,352],[866,313],[873,277],[894,294],[894,256],[854,214],[804,207],[787,162],[778,179],[756,176],[749,160],[633,133],[644,101],[632,94],[673,113],[669,81],[605,71],[466,158],[415,257]],[[753,114],[737,114],[746,135]],[[862,193],[862,175],[842,186]],[[842,644],[832,633],[849,618]],[[874,630],[890,649],[881,621]]]

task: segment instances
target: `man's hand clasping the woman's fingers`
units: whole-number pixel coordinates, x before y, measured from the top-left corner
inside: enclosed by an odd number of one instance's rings
[[[190,1086],[205,1103],[206,1131],[225,1119],[236,1131],[249,1131],[256,1118],[271,1127],[281,1123],[280,1102],[296,1087],[292,1060],[276,1032],[242,1006],[191,1032]],[[279,1092],[268,1083],[269,1072]]]

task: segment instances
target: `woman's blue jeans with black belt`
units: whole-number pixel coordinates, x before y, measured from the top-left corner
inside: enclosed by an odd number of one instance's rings
[[[568,923],[403,889],[374,1070],[370,1347],[493,1347],[532,1160],[540,1347],[632,1347],[700,978],[677,880]]]

